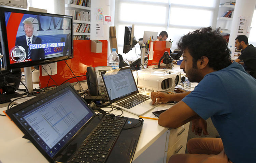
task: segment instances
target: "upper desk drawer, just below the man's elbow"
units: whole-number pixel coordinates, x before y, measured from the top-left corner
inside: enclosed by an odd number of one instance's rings
[[[170,148],[189,130],[189,122],[182,125],[177,129],[170,130],[170,137],[168,142],[168,147],[166,146],[165,151],[169,151]],[[186,141],[187,142],[187,141]]]

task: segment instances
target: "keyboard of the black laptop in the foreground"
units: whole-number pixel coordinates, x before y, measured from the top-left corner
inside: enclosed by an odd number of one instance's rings
[[[114,147],[113,144],[122,131],[125,121],[125,118],[105,116],[69,162],[104,163]]]

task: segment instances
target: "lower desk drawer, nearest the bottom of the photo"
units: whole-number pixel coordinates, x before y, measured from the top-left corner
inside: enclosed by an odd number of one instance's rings
[[[174,146],[168,152],[166,152],[166,163],[168,163],[170,157],[173,154],[185,153],[187,145],[187,134],[188,132],[185,132],[181,139],[177,143],[175,143]]]

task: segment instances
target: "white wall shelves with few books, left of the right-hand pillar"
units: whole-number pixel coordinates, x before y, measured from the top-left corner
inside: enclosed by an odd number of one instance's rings
[[[225,1],[223,2],[225,3]],[[218,11],[218,19],[216,27],[220,28],[222,35],[227,35],[230,33],[231,25],[232,25],[232,16],[234,13],[234,5],[230,4],[220,4]]]

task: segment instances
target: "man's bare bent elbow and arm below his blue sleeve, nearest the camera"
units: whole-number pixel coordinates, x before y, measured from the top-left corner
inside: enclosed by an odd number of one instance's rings
[[[200,118],[186,103],[180,101],[160,114],[158,124],[163,127],[178,128],[187,122]]]

